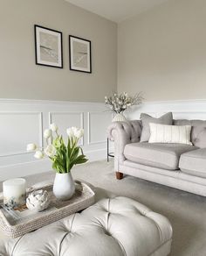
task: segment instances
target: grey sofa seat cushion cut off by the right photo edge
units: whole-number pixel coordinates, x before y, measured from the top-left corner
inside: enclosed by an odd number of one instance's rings
[[[206,178],[206,148],[183,153],[179,167],[183,173]]]

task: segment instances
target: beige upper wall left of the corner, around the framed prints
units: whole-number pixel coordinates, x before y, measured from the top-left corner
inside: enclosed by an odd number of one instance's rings
[[[35,65],[34,24],[63,32],[64,69]],[[93,73],[69,70],[68,35],[92,41]],[[103,102],[117,83],[117,25],[64,0],[1,0],[0,98]]]

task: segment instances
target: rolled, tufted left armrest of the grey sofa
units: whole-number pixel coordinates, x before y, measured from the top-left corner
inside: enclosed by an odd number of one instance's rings
[[[113,122],[107,129],[108,139],[114,141],[114,168],[125,160],[124,149],[129,143],[139,142],[141,137],[141,121]]]

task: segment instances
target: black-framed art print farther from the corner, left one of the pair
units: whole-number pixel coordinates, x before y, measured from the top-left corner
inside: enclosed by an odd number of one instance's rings
[[[62,32],[34,25],[36,64],[63,68]]]

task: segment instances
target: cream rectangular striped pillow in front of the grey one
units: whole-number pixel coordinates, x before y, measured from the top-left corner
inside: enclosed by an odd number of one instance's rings
[[[181,143],[192,145],[191,125],[165,125],[150,123],[149,143]]]

